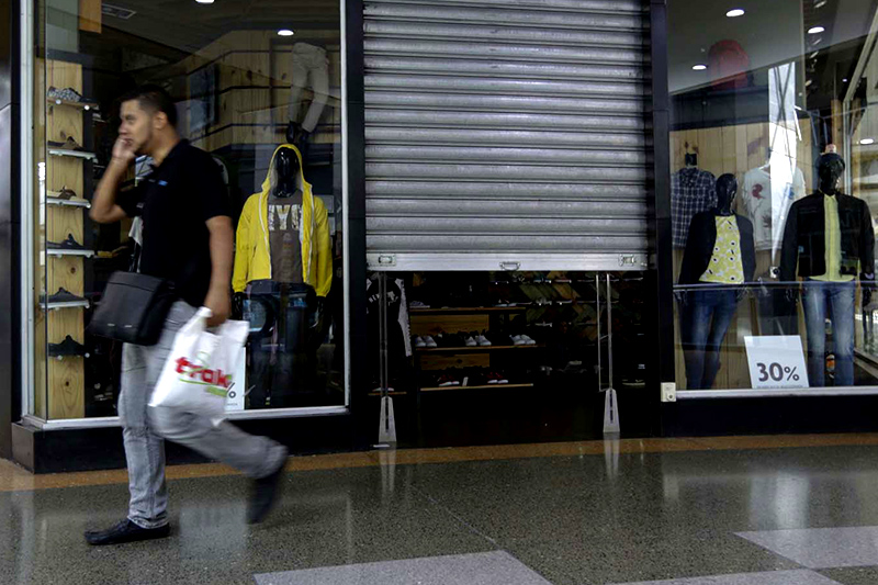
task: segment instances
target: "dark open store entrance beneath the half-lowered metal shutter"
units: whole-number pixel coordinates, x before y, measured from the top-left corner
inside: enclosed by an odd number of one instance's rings
[[[382,272],[369,286],[370,396],[375,412],[382,390],[393,400],[399,446],[597,439],[610,383],[626,436],[649,434],[646,273]]]

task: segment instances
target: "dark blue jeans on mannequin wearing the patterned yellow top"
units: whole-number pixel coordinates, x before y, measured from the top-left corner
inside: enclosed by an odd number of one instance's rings
[[[686,387],[710,390],[720,371],[720,347],[738,310],[738,291],[701,289],[686,296],[680,311]]]

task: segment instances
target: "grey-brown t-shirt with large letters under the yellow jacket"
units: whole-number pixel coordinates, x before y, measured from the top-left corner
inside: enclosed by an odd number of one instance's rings
[[[302,193],[268,198],[268,239],[271,252],[271,280],[301,283],[302,279]]]

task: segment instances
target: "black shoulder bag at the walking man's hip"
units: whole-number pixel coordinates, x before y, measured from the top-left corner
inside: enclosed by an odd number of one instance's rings
[[[176,300],[173,284],[168,280],[136,272],[113,272],[88,330],[126,344],[154,346],[161,337],[165,318]]]

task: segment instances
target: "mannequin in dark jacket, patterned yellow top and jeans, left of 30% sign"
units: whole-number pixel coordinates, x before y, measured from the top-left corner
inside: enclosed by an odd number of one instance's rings
[[[688,286],[680,302],[680,336],[689,390],[713,386],[722,340],[742,286],[755,271],[753,224],[732,213],[736,192],[734,176],[717,179],[717,207],[693,217],[686,239],[679,284]]]

